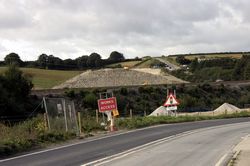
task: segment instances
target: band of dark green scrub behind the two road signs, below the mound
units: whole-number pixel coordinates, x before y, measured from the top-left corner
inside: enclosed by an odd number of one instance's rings
[[[220,86],[211,86],[209,84],[185,86],[183,84],[172,87],[122,87],[113,91],[117,99],[120,116],[129,116],[130,109],[133,110],[133,115],[150,114],[165,102],[167,89],[176,89],[177,98],[180,101],[178,106],[180,112],[211,111],[225,102],[232,103],[240,108],[243,108],[246,103],[250,103],[250,87],[234,89],[223,84]],[[103,91],[105,90],[103,89]],[[98,109],[99,92],[97,89],[94,91],[84,90],[75,92],[74,95],[68,97],[71,97],[77,103],[77,110],[94,116],[94,110]]]

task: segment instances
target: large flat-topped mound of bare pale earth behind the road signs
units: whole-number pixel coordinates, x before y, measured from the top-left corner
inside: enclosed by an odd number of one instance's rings
[[[160,85],[172,83],[178,84],[186,82],[171,75],[152,74],[148,70],[141,72],[128,69],[102,69],[86,71],[53,89]]]

